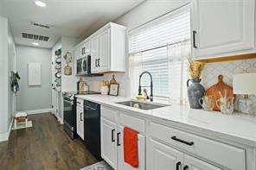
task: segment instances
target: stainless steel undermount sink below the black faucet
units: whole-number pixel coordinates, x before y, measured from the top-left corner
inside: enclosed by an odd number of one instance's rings
[[[116,104],[122,104],[122,105],[126,105],[126,106],[129,106],[129,107],[138,108],[138,109],[141,109],[141,110],[154,110],[154,109],[157,109],[157,108],[168,106],[166,104],[150,104],[150,103],[147,103],[147,102],[140,102],[140,101],[136,101],[136,100],[118,102]]]

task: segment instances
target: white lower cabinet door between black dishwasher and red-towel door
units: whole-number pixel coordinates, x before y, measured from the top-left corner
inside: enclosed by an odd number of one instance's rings
[[[114,169],[118,167],[117,124],[100,119],[101,157]]]

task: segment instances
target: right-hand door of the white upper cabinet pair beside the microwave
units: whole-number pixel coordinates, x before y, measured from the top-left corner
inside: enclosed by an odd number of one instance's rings
[[[110,28],[99,34],[99,69],[101,72],[110,70]]]

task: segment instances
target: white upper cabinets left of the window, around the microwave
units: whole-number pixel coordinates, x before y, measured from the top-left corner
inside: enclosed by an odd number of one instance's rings
[[[76,48],[81,47],[81,56],[91,55],[92,73],[125,72],[126,28],[108,23]]]

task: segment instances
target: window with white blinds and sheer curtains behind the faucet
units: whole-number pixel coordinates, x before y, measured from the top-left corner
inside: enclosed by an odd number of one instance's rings
[[[188,79],[187,58],[190,54],[190,12],[176,9],[129,34],[131,95],[138,95],[141,72],[152,74],[154,98],[184,103]],[[144,74],[143,89],[150,94],[150,77]]]

